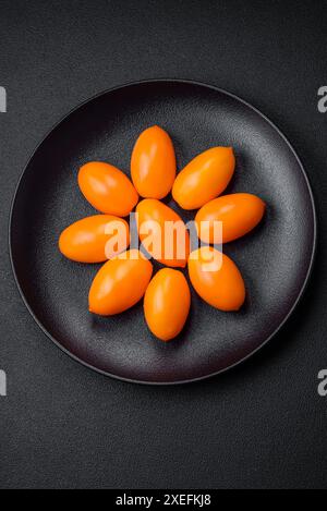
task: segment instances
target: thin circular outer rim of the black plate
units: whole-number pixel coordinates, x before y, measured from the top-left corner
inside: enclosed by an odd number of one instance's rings
[[[36,314],[34,313],[32,306],[28,304],[27,302],[27,299],[22,290],[22,287],[20,284],[20,280],[19,280],[19,277],[17,277],[17,273],[16,273],[16,270],[15,270],[15,263],[14,263],[14,257],[13,257],[13,252],[12,252],[12,235],[13,235],[13,215],[14,215],[14,208],[15,208],[15,203],[16,203],[16,198],[17,198],[17,195],[19,195],[19,192],[20,192],[20,188],[21,188],[21,184],[22,184],[22,181],[23,181],[23,178],[33,160],[33,158],[35,157],[36,153],[38,151],[38,149],[40,148],[40,146],[46,142],[46,139],[51,135],[51,133],[62,123],[64,122],[69,117],[71,117],[75,111],[77,111],[80,108],[86,106],[88,102],[90,101],[94,101],[95,99],[101,97],[101,96],[105,96],[107,94],[111,94],[116,90],[119,90],[119,89],[123,89],[123,88],[128,88],[128,87],[133,87],[133,86],[137,86],[137,85],[146,85],[146,84],[156,84],[156,83],[170,83],[170,84],[186,84],[186,85],[196,85],[196,86],[199,86],[199,87],[204,87],[204,88],[207,88],[207,89],[210,89],[210,90],[214,90],[214,92],[217,92],[219,94],[222,94],[225,96],[228,96],[229,98],[232,98],[232,99],[235,99],[237,101],[241,102],[243,106],[245,106],[246,108],[249,108],[250,110],[252,110],[253,112],[255,112],[256,114],[258,114],[265,122],[267,122],[277,133],[278,135],[283,139],[283,142],[287,144],[288,148],[291,150],[291,153],[293,154],[296,162],[298,162],[298,166],[302,172],[302,175],[304,178],[304,181],[305,181],[305,184],[306,184],[306,187],[307,187],[307,191],[308,191],[308,195],[310,195],[310,199],[311,199],[311,207],[312,207],[312,214],[313,214],[313,228],[314,228],[314,233],[313,233],[313,244],[312,244],[312,252],[311,252],[311,259],[310,259],[310,265],[308,265],[308,268],[307,268],[307,271],[306,271],[306,275],[305,275],[305,279],[302,283],[302,287],[301,287],[301,290],[299,291],[298,293],[298,296],[296,296],[296,300],[294,301],[294,303],[292,304],[290,311],[288,312],[288,314],[284,316],[284,318],[282,319],[282,321],[278,325],[278,327],[274,330],[272,333],[270,333],[269,337],[267,337],[265,339],[265,341],[257,348],[255,348],[254,350],[252,350],[250,353],[247,353],[245,356],[243,356],[242,358],[240,358],[239,361],[234,362],[233,364],[229,365],[228,367],[225,367],[223,369],[219,369],[217,372],[214,372],[214,373],[209,373],[207,375],[203,375],[203,376],[198,376],[198,377],[195,377],[195,378],[186,378],[186,379],[181,379],[181,380],[172,380],[172,381],[149,381],[149,380],[142,380],[142,379],[135,379],[135,378],[126,378],[126,377],[123,377],[123,376],[119,376],[119,375],[116,375],[113,373],[109,373],[107,370],[104,370],[104,369],[100,369],[92,364],[88,364],[87,362],[83,361],[82,358],[80,358],[77,355],[75,355],[74,353],[72,353],[70,350],[68,350],[66,348],[64,348],[47,329],[46,327],[41,324],[41,321],[38,319],[38,317],[36,316]],[[293,314],[293,312],[295,311],[295,308],[298,307],[301,299],[303,297],[303,294],[306,290],[306,287],[307,287],[307,283],[310,281],[310,278],[311,278],[311,275],[312,275],[312,271],[313,271],[313,267],[314,267],[314,261],[315,261],[315,256],[316,256],[316,252],[317,252],[317,214],[316,214],[316,206],[315,206],[315,199],[314,199],[314,194],[313,194],[313,190],[312,190],[312,186],[311,186],[311,182],[310,182],[310,179],[308,179],[308,175],[304,169],[304,166],[300,159],[300,157],[298,156],[298,153],[295,151],[294,147],[292,146],[292,144],[290,143],[290,141],[288,139],[288,137],[284,135],[284,133],[267,117],[258,108],[254,107],[252,104],[247,102],[246,100],[244,100],[243,98],[239,97],[238,95],[233,94],[233,93],[230,93],[221,87],[217,87],[216,85],[214,84],[209,84],[209,83],[205,83],[205,82],[201,82],[201,81],[195,81],[195,80],[187,80],[187,78],[165,78],[165,77],[160,77],[160,78],[149,78],[149,80],[140,80],[140,81],[132,81],[132,82],[126,82],[124,84],[121,84],[121,85],[116,85],[113,87],[110,87],[108,89],[105,89],[100,93],[97,93],[96,95],[89,97],[88,99],[85,99],[84,101],[80,102],[76,107],[72,108],[68,113],[65,113],[64,115],[62,115],[59,121],[57,121],[48,131],[47,133],[45,134],[45,136],[41,138],[41,141],[36,145],[36,147],[34,148],[34,150],[32,151],[31,156],[27,158],[27,161],[24,166],[24,169],[19,178],[19,181],[16,183],[16,186],[15,186],[15,191],[14,191],[14,195],[13,195],[13,198],[12,198],[12,202],[11,202],[11,206],[10,206],[10,216],[9,216],[9,229],[8,229],[8,245],[9,245],[9,257],[10,257],[10,265],[11,265],[11,269],[12,269],[12,272],[13,272],[13,277],[14,277],[14,281],[16,283],[16,287],[19,289],[19,293],[21,295],[21,299],[25,305],[25,307],[27,308],[29,315],[32,316],[32,318],[34,319],[34,321],[36,323],[36,325],[40,328],[40,330],[46,334],[46,337],[48,337],[63,353],[65,353],[66,355],[69,355],[72,360],[74,360],[75,362],[82,364],[84,367],[87,367],[88,369],[93,370],[93,372],[96,372],[102,376],[106,376],[106,377],[110,377],[110,378],[113,378],[113,379],[117,379],[117,380],[120,380],[120,381],[124,381],[124,382],[128,382],[128,384],[137,384],[137,385],[145,385],[145,386],[158,386],[158,387],[166,387],[166,386],[177,386],[177,385],[186,385],[186,384],[193,384],[193,382],[197,382],[197,381],[202,381],[202,380],[205,380],[205,379],[208,379],[208,378],[213,378],[215,376],[218,376],[218,375],[221,375],[223,373],[227,373],[231,369],[233,369],[234,367],[239,366],[240,364],[243,364],[245,361],[247,361],[250,357],[252,357],[253,355],[255,355],[259,350],[262,350],[266,344],[268,344],[268,342],[270,342],[272,340],[272,338],[275,338],[275,336],[277,336],[277,333],[282,329],[282,327],[286,325],[286,323],[289,320],[290,316]]]

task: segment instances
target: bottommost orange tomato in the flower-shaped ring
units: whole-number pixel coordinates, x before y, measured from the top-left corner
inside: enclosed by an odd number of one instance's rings
[[[161,341],[174,339],[183,329],[191,292],[183,273],[164,268],[150,281],[144,296],[144,315],[150,331]]]

